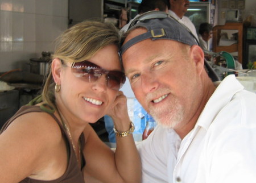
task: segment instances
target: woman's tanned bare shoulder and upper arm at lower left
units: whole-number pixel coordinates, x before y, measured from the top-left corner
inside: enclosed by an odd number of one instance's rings
[[[42,171],[55,157],[52,154],[59,152],[61,142],[60,127],[51,115],[31,112],[16,118],[0,135],[0,168],[6,169],[0,177],[15,173],[22,180]]]

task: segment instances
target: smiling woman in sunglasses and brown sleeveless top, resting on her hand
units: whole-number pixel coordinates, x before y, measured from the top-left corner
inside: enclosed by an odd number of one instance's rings
[[[141,181],[134,127],[118,91],[125,82],[118,44],[115,27],[101,22],[60,35],[42,98],[21,107],[1,131],[2,182]],[[105,114],[114,120],[115,153],[88,124]]]

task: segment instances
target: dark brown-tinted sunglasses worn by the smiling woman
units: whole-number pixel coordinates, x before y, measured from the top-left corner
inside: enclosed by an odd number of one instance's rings
[[[65,64],[62,60],[61,63]],[[75,77],[81,77],[84,81],[87,82],[97,81],[98,78],[102,76],[102,74],[105,74],[106,86],[113,90],[119,90],[126,80],[125,73],[118,70],[102,69],[100,66],[87,60],[73,63],[71,65],[71,72]]]

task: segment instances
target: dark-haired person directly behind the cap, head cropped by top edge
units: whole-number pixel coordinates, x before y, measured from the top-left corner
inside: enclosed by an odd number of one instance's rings
[[[125,26],[123,26],[120,30],[121,33],[124,33],[129,28],[131,22],[135,18],[137,18],[139,15],[146,13],[147,11],[164,11],[168,12],[168,8],[170,7],[170,4],[168,0],[142,0],[142,2],[139,4],[138,7],[138,15],[136,15],[133,19],[130,20],[129,23],[127,23]]]

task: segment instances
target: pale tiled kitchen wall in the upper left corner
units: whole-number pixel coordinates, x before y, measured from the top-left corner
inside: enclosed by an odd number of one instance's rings
[[[0,72],[29,71],[68,28],[68,0],[0,0]]]

